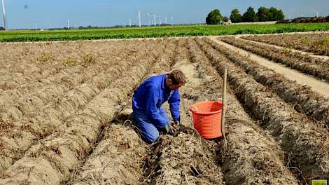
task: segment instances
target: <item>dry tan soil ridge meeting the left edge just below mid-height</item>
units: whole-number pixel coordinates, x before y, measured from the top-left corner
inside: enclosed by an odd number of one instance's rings
[[[130,48],[131,52],[131,48]],[[122,56],[130,52],[122,53]],[[0,95],[0,116],[3,122],[11,122],[22,119],[25,116],[36,116],[40,107],[48,102],[63,96],[69,90],[76,88],[81,83],[90,81],[99,72],[117,64],[123,57],[113,62],[99,62],[99,64],[88,64],[89,67],[74,67],[64,69],[55,76],[48,76],[29,85],[15,90],[6,90]],[[110,63],[110,64],[109,64]],[[1,103],[2,102],[2,103]]]

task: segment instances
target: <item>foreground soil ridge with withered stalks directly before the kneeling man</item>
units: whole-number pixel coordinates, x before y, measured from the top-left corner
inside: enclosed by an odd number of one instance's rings
[[[221,168],[214,160],[214,153],[205,149],[206,142],[194,135],[178,137],[162,135],[150,151],[150,184],[224,184]]]

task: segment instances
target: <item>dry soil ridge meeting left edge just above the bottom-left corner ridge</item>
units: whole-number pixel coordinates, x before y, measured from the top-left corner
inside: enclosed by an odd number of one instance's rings
[[[0,141],[3,145],[0,153],[1,171],[18,160],[38,139],[43,139],[57,132],[61,125],[68,124],[68,119],[83,109],[106,86],[111,85],[120,75],[126,74],[126,69],[135,65],[134,60],[147,55],[148,50],[153,49],[151,46],[146,46],[146,49],[141,50],[140,53],[126,56],[124,60],[118,58],[120,62],[117,65],[112,65],[92,80],[70,90],[58,100],[49,102],[35,117],[1,124],[3,128],[0,132]]]

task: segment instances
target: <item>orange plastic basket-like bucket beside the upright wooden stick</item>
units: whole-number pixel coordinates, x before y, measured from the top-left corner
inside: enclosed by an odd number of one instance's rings
[[[204,139],[222,136],[222,102],[206,101],[190,107],[194,128]]]

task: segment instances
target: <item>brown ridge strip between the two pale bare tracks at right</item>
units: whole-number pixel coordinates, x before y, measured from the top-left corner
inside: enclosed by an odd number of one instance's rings
[[[309,56],[298,55],[296,53],[289,53],[271,47],[260,47],[256,43],[246,41],[244,39],[235,39],[235,37],[223,37],[221,41],[232,44],[244,50],[248,50],[256,55],[267,57],[269,60],[286,64],[287,67],[297,69],[306,74],[316,76],[325,81],[329,81],[329,62],[319,59],[314,59]],[[296,57],[296,55],[298,57]],[[316,62],[317,61],[317,62]]]

